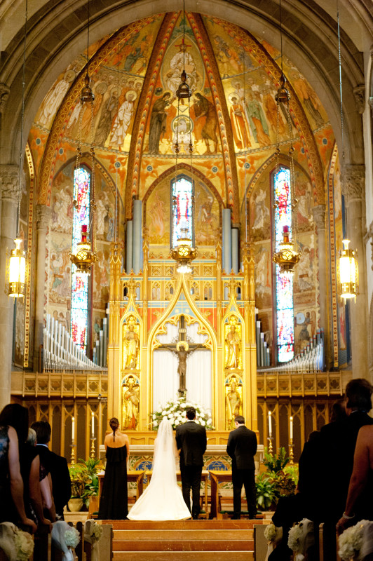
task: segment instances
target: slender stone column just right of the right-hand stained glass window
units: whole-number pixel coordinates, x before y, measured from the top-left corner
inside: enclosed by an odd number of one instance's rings
[[[312,209],[313,219],[317,227],[318,240],[318,287],[320,302],[320,327],[323,327],[325,336],[325,363],[327,370],[332,365],[330,349],[330,325],[327,323],[327,255],[326,255],[326,205],[317,205]]]

